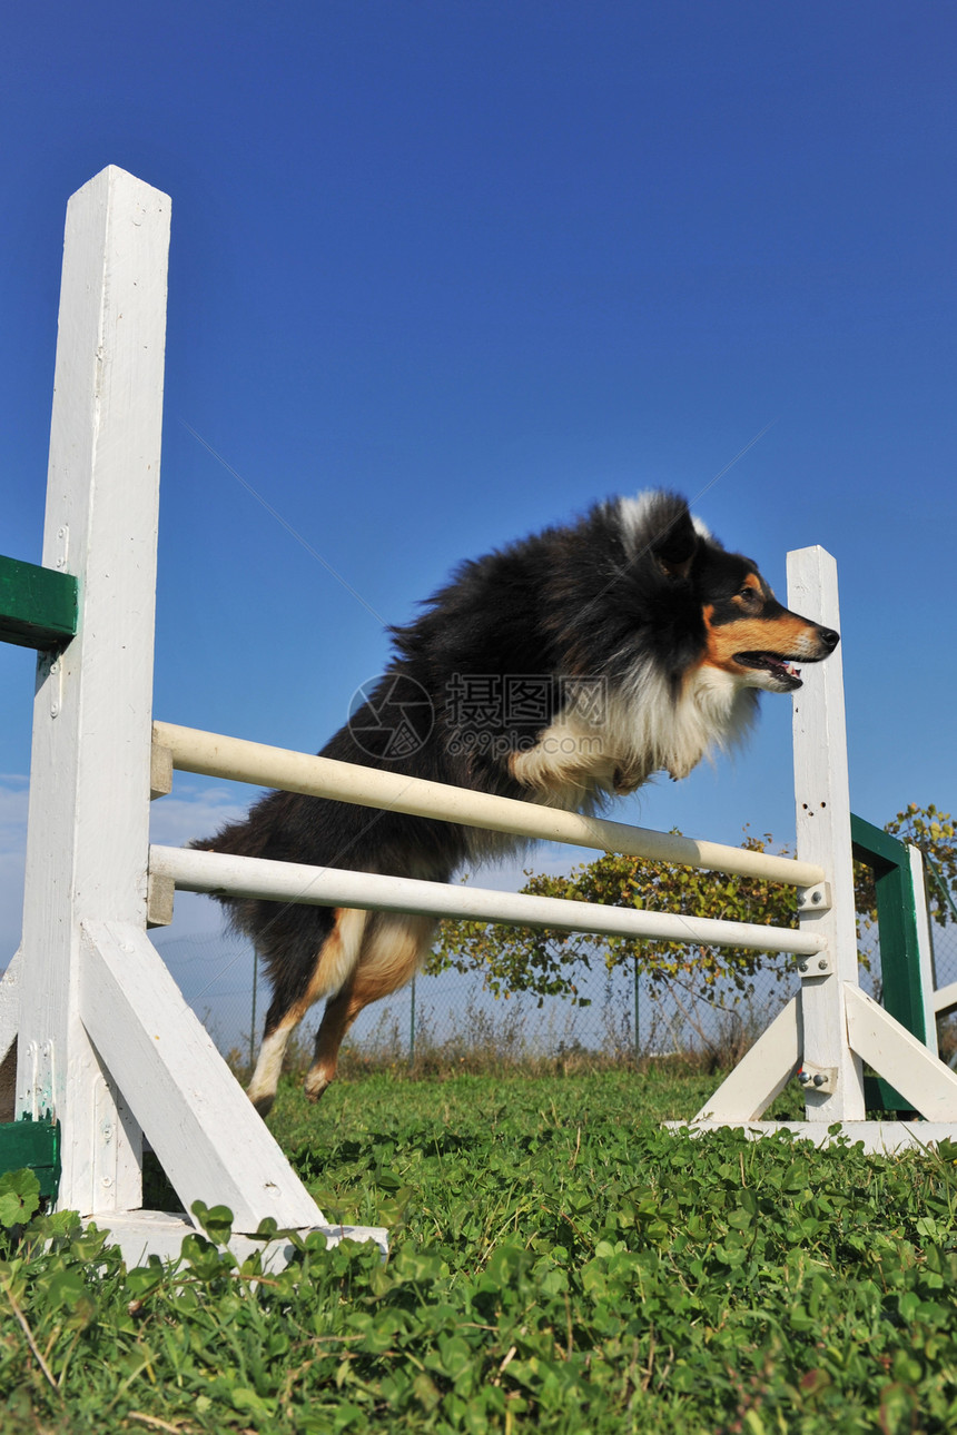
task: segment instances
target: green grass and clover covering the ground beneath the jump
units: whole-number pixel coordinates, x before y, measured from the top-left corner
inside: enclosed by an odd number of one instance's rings
[[[0,1250],[0,1429],[956,1429],[957,1148],[660,1129],[713,1086],[385,1073],[311,1108],[284,1085],[273,1129],[329,1217],[390,1227],[387,1263],[310,1238],[257,1283],[192,1237],[126,1273],[34,1218]]]

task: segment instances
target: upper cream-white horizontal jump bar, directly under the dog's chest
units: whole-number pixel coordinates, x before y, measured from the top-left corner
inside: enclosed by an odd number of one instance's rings
[[[386,808],[430,817],[442,822],[461,822],[491,832],[512,832],[545,842],[571,842],[600,852],[623,852],[684,867],[707,867],[739,877],[765,877],[791,887],[816,887],[825,880],[824,868],[798,862],[791,857],[749,852],[743,847],[700,842],[673,832],[605,822],[601,818],[562,812],[518,798],[499,798],[491,792],[453,788],[445,782],[426,782],[402,772],[362,768],[333,758],[314,758],[288,748],[268,748],[242,738],[224,738],[198,728],[155,722],[154,742],[172,752],[172,765],[181,772],[199,772],[208,778],[254,782],[258,786],[303,792],[307,796],[334,798],[357,806]],[[815,949],[816,950],[816,949]]]

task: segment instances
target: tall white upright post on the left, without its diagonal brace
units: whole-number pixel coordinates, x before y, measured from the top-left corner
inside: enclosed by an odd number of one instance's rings
[[[168,245],[168,197],[122,169],[69,202],[43,563],[79,577],[80,611],[37,669],[16,1105],[59,1118],[59,1204],[80,1213],[141,1204],[79,950],[86,918],[145,924]]]

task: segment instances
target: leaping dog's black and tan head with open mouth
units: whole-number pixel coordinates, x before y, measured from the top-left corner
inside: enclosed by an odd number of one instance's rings
[[[819,663],[835,650],[839,634],[785,608],[750,558],[727,552],[692,518],[683,499],[661,498],[661,527],[650,552],[674,596],[693,597],[700,607],[700,664],[732,674],[742,687],[770,693],[801,687],[792,664]]]

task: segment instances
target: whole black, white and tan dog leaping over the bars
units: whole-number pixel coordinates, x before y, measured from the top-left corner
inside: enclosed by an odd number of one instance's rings
[[[575,811],[686,776],[742,738],[760,689],[801,686],[838,634],[789,613],[756,565],[726,552],[684,499],[598,504],[463,564],[323,756]],[[448,883],[517,839],[451,822],[270,792],[194,847]],[[336,1075],[359,1012],[409,982],[430,917],[222,898],[273,986],[250,1096],[268,1111],[290,1035],[327,997],[306,1092]]]

